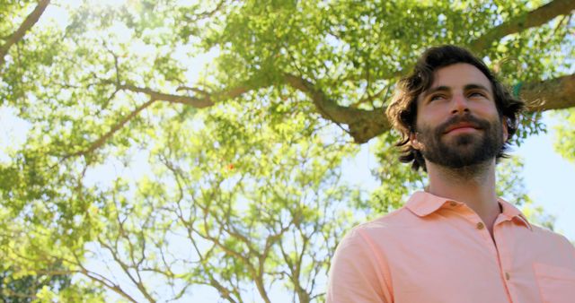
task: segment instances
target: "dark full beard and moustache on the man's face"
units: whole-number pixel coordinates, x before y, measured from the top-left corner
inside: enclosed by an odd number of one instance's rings
[[[449,126],[469,123],[478,131],[447,135]],[[432,128],[418,127],[418,140],[423,144],[423,158],[448,169],[464,169],[477,166],[497,156],[503,147],[501,120],[490,121],[472,115],[454,116],[445,123]]]

